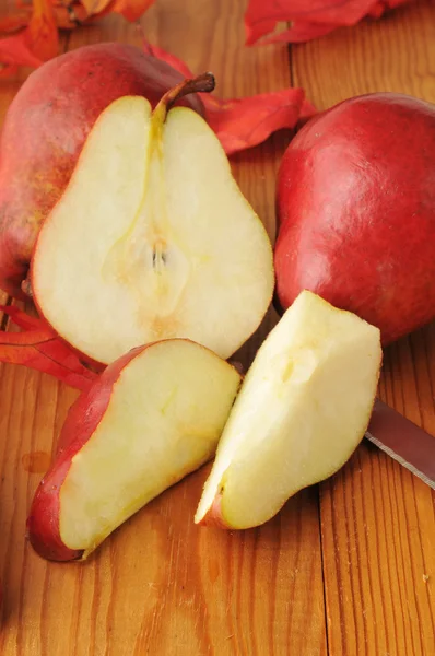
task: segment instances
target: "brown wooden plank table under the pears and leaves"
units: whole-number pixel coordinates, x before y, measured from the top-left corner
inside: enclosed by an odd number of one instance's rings
[[[193,71],[213,70],[224,97],[292,83],[320,109],[385,90],[435,102],[430,0],[291,49],[245,48],[244,9],[236,0],[157,0],[142,25]],[[134,26],[109,16],[64,36],[62,49],[115,39],[140,44]],[[1,81],[2,115],[24,77]],[[232,159],[271,236],[289,139],[275,134]],[[274,321],[270,313],[243,349],[245,364]],[[386,351],[379,395],[435,435],[434,390],[432,326]],[[40,560],[25,541],[26,512],[75,396],[48,376],[0,368],[2,656],[435,655],[434,495],[367,443],[260,529],[193,526],[204,468],[84,564]]]

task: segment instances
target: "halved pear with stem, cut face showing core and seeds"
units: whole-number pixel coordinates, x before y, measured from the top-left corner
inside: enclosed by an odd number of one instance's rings
[[[270,304],[272,249],[260,219],[201,116],[168,110],[203,90],[196,82],[168,92],[153,113],[143,97],[109,105],[39,233],[36,305],[97,362],[174,337],[227,359]]]

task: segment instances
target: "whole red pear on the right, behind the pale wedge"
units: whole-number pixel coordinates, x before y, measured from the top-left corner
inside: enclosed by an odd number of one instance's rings
[[[277,292],[306,289],[380,328],[435,317],[435,106],[376,93],[311,119],[278,178]]]

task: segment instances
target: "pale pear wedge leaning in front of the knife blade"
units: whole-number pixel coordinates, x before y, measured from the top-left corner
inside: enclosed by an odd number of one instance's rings
[[[364,436],[380,364],[377,328],[302,292],[245,378],[196,523],[258,526],[336,472]]]

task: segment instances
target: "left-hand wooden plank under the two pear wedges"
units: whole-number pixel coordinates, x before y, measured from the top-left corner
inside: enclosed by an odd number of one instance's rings
[[[289,84],[286,46],[243,47],[242,3],[160,0],[142,21],[153,43],[212,69],[234,96]],[[70,47],[140,44],[119,17],[78,30]],[[233,159],[242,189],[274,232],[274,177],[287,136]],[[238,354],[245,366],[275,321]],[[40,478],[23,456],[48,453],[75,393],[3,367],[0,380],[2,656],[317,656],[326,654],[318,493],[305,491],[258,530],[199,529],[192,516],[208,468],[163,494],[84,564],[46,563],[24,541]]]

